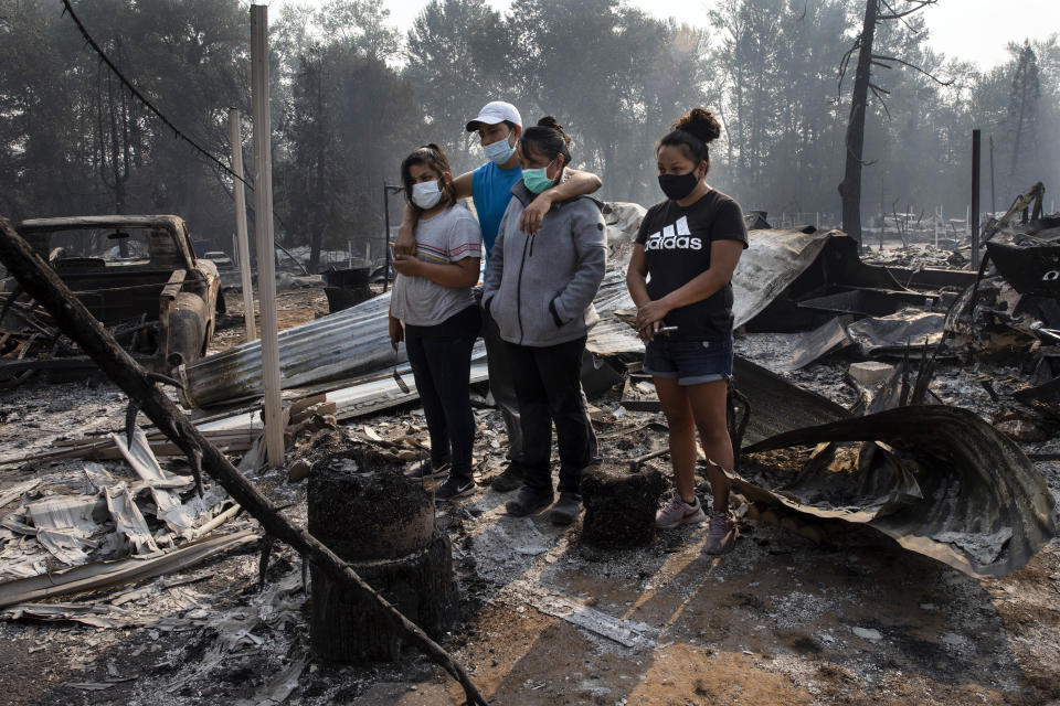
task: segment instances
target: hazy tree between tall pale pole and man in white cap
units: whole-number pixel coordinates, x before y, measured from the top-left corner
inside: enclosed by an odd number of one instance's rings
[[[410,82],[381,54],[393,46],[379,40],[384,12],[378,2],[296,9],[277,32],[287,93],[276,208],[289,226],[287,244],[309,245],[312,270],[322,249],[360,246],[382,229],[383,179],[396,180],[401,157],[425,131]]]

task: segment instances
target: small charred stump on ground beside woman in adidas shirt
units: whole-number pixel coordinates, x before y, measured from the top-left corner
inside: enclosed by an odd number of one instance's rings
[[[655,536],[655,513],[666,490],[661,471],[605,462],[582,471],[585,504],[582,542],[598,547],[636,547]]]

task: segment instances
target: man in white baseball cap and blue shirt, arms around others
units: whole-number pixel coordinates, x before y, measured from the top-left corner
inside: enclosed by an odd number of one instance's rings
[[[516,146],[522,132],[522,116],[519,109],[504,100],[491,100],[483,106],[478,115],[467,121],[468,132],[478,132],[483,153],[488,160],[474,171],[460,174],[453,181],[457,199],[475,202],[478,223],[483,229],[483,252],[486,254],[486,267],[489,268],[489,252],[497,239],[500,220],[511,201],[511,188],[522,179],[522,165]],[[598,190],[603,182],[600,176],[573,169],[564,170],[565,180],[541,192],[522,213],[520,221],[523,231],[537,233],[541,221],[554,202],[568,201],[575,196],[590,194]],[[416,240],[413,224],[416,221],[411,207],[405,207],[401,222],[395,253],[413,255]],[[481,290],[479,289],[479,296]],[[510,491],[522,484],[522,429],[519,424],[519,403],[508,366],[506,344],[500,338],[497,323],[483,310],[483,341],[486,343],[486,364],[489,373],[489,389],[500,408],[508,431],[508,468],[492,481],[498,491]],[[595,438],[594,438],[595,441]],[[593,453],[596,449],[594,446]]]

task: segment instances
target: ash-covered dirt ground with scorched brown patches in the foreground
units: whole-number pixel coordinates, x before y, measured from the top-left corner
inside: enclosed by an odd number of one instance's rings
[[[215,347],[242,336],[236,297],[229,296],[229,307]],[[319,289],[293,290],[282,292],[279,310],[293,325],[327,304]],[[738,352],[768,365],[788,353],[778,341],[744,336]],[[842,382],[849,363],[833,355],[787,376],[849,404]],[[932,389],[990,418],[999,407],[981,386],[983,376],[1004,386],[1018,372],[944,362]],[[594,405],[606,458],[621,461],[661,441],[644,429],[660,416],[619,410],[616,391]],[[3,393],[3,454],[119,429],[124,407],[124,395],[100,381],[34,382]],[[689,526],[660,532],[639,549],[594,549],[579,542],[580,523],[555,527],[543,514],[505,515],[509,495],[485,484],[502,468],[504,427],[491,409],[476,409],[476,417],[479,486],[437,510],[453,542],[463,617],[443,645],[491,704],[1060,704],[1060,541],[1025,568],[988,580],[902,550],[870,530],[818,546],[746,520],[736,548],[720,558],[700,554],[706,528]],[[360,436],[365,427],[384,438],[410,431],[426,438],[416,408],[351,420],[340,431]],[[1060,441],[1024,448],[1054,452]],[[1060,463],[1037,467],[1060,499]],[[6,466],[0,489],[36,474],[73,492],[81,468],[80,461]],[[665,461],[660,468],[668,473]],[[277,502],[294,503],[285,512],[305,522],[305,481],[287,482],[277,469],[254,482]],[[243,528],[256,525],[241,517],[225,526]],[[463,703],[459,687],[416,653],[396,664],[316,661],[300,566],[295,553],[278,547],[258,590],[252,547],[163,579],[63,599],[119,605],[135,619],[126,628],[0,622],[0,703]],[[138,589],[147,590],[129,592]]]

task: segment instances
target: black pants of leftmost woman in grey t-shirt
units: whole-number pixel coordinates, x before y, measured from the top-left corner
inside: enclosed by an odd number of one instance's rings
[[[478,307],[470,307],[437,327],[405,327],[409,363],[431,435],[431,461],[448,461],[454,474],[466,478],[471,477],[475,443],[469,378],[478,325]]]

